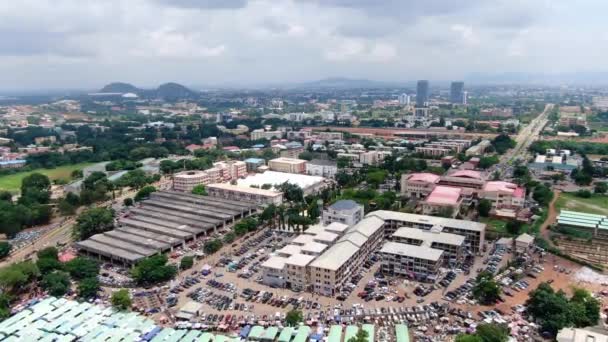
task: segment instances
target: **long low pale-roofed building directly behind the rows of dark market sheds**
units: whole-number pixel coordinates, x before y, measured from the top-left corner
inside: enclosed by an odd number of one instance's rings
[[[283,202],[283,193],[272,190],[221,183],[209,184],[206,189],[209,196],[235,201],[252,202],[260,205],[279,205]]]

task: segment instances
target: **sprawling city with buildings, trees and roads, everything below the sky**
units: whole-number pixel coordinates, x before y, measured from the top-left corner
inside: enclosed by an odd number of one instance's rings
[[[0,97],[1,341],[608,341],[608,90]]]

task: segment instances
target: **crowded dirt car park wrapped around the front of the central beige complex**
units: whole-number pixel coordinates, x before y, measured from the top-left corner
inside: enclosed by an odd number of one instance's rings
[[[518,260],[529,267],[507,267],[511,252],[488,245],[483,256],[468,258],[459,268],[442,270],[436,284],[422,284],[384,277],[378,273],[379,262],[372,257],[341,296],[328,298],[261,284],[260,263],[293,236],[264,229],[198,259],[191,270],[182,272],[159,291],[160,312],[149,313],[160,320],[168,308],[165,313],[171,318],[188,301],[196,301],[203,305],[204,315],[191,322],[170,319],[168,323],[223,331],[243,324],[282,326],[285,313],[298,308],[309,325],[373,323],[380,335],[384,328],[390,331],[394,324],[407,322],[419,340],[442,340],[478,322],[511,319],[510,315],[521,313],[529,291],[542,281],[570,291],[572,274],[566,270],[576,272],[580,268],[552,255],[541,258],[539,253]],[[187,253],[197,248],[193,246]],[[172,262],[178,262],[184,254],[177,252]],[[502,302],[497,305],[480,306],[471,298],[474,279],[484,270],[494,274],[503,286]]]

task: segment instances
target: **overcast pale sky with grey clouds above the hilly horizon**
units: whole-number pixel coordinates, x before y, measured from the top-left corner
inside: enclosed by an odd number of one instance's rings
[[[0,1],[0,89],[606,71],[602,0]]]

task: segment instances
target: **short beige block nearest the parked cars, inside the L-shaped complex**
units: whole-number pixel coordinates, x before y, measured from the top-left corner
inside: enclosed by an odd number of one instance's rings
[[[380,250],[382,273],[419,281],[435,281],[443,265],[443,251],[398,242],[386,242]]]

